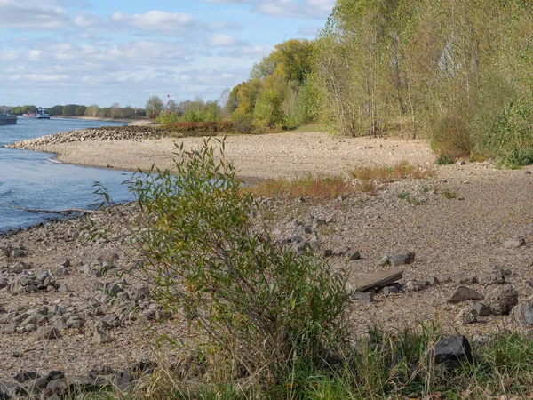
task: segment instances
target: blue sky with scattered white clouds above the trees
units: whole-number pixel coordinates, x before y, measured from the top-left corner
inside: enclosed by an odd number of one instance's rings
[[[0,0],[0,104],[217,100],[335,0]]]

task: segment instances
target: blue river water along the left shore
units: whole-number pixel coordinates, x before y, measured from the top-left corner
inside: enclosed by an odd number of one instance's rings
[[[19,117],[18,124],[0,125],[0,203],[46,210],[95,208],[102,202],[94,194],[95,181],[107,188],[115,202],[130,200],[131,194],[122,182],[131,177],[131,172],[61,164],[49,153],[2,147],[17,140],[106,125],[123,124]],[[51,217],[59,215],[14,210],[0,204],[0,232],[28,227]]]

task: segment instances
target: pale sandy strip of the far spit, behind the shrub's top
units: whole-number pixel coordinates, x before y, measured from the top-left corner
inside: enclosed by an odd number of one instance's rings
[[[152,164],[171,168],[175,144],[180,142],[186,148],[198,147],[203,138],[79,141],[41,149],[58,154],[64,163],[137,170]],[[322,132],[229,136],[226,155],[242,177],[251,179],[335,175],[362,164],[434,161],[431,150],[420,141],[340,138]]]

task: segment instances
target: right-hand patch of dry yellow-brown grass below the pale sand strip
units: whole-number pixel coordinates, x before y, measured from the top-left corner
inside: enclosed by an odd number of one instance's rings
[[[368,181],[375,180],[378,183],[391,183],[395,180],[421,180],[434,174],[433,168],[418,168],[407,161],[395,164],[392,167],[387,166],[360,166],[350,172],[356,180]]]

